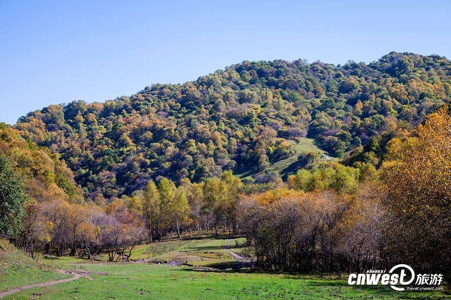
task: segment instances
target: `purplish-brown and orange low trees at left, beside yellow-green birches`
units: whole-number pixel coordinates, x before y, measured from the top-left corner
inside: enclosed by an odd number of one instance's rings
[[[16,246],[31,257],[37,249],[44,255],[88,259],[105,253],[110,261],[129,257],[143,240],[145,228],[139,213],[122,201],[114,201],[105,209],[61,199],[28,203],[14,235]]]

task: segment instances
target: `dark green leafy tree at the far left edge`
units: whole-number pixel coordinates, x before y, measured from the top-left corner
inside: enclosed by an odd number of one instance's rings
[[[15,234],[24,213],[23,181],[0,153],[0,234]]]

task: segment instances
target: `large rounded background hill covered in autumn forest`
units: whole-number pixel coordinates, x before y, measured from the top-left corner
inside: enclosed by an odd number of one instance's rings
[[[200,181],[223,170],[264,171],[298,155],[290,140],[306,136],[342,158],[372,137],[383,145],[405,135],[450,97],[451,63],[437,55],[391,52],[342,66],[244,61],[105,103],[49,105],[14,127],[59,152],[92,198],[112,197],[159,176]]]

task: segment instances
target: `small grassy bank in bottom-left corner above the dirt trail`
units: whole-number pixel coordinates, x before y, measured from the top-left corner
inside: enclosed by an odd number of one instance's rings
[[[51,270],[48,264],[41,261],[42,255],[33,260],[7,240],[0,239],[0,292],[71,277]]]

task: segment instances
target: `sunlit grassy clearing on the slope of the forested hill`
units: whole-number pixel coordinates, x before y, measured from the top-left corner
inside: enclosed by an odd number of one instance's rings
[[[296,173],[296,171],[299,169],[297,160],[298,160],[298,155],[301,153],[320,152],[321,153],[320,162],[338,161],[337,158],[331,157],[327,152],[318,148],[318,146],[315,145],[315,140],[313,138],[306,138],[306,137],[301,138],[301,141],[299,143],[296,143],[293,140],[287,140],[287,142],[294,147],[295,154],[288,156],[288,157],[284,157],[280,160],[270,162],[270,165],[267,168],[267,170],[270,170],[270,171],[277,171],[279,173],[280,177],[282,177],[282,179],[284,179],[284,180],[286,180],[288,175]],[[323,158],[324,155],[326,155],[330,159],[324,159]],[[239,171],[235,175],[239,176],[241,179],[246,179],[249,177],[255,177],[256,175],[258,175],[260,173],[262,173],[262,172],[258,172],[258,171],[256,172],[253,169],[246,169],[246,170],[242,170],[241,172]]]

